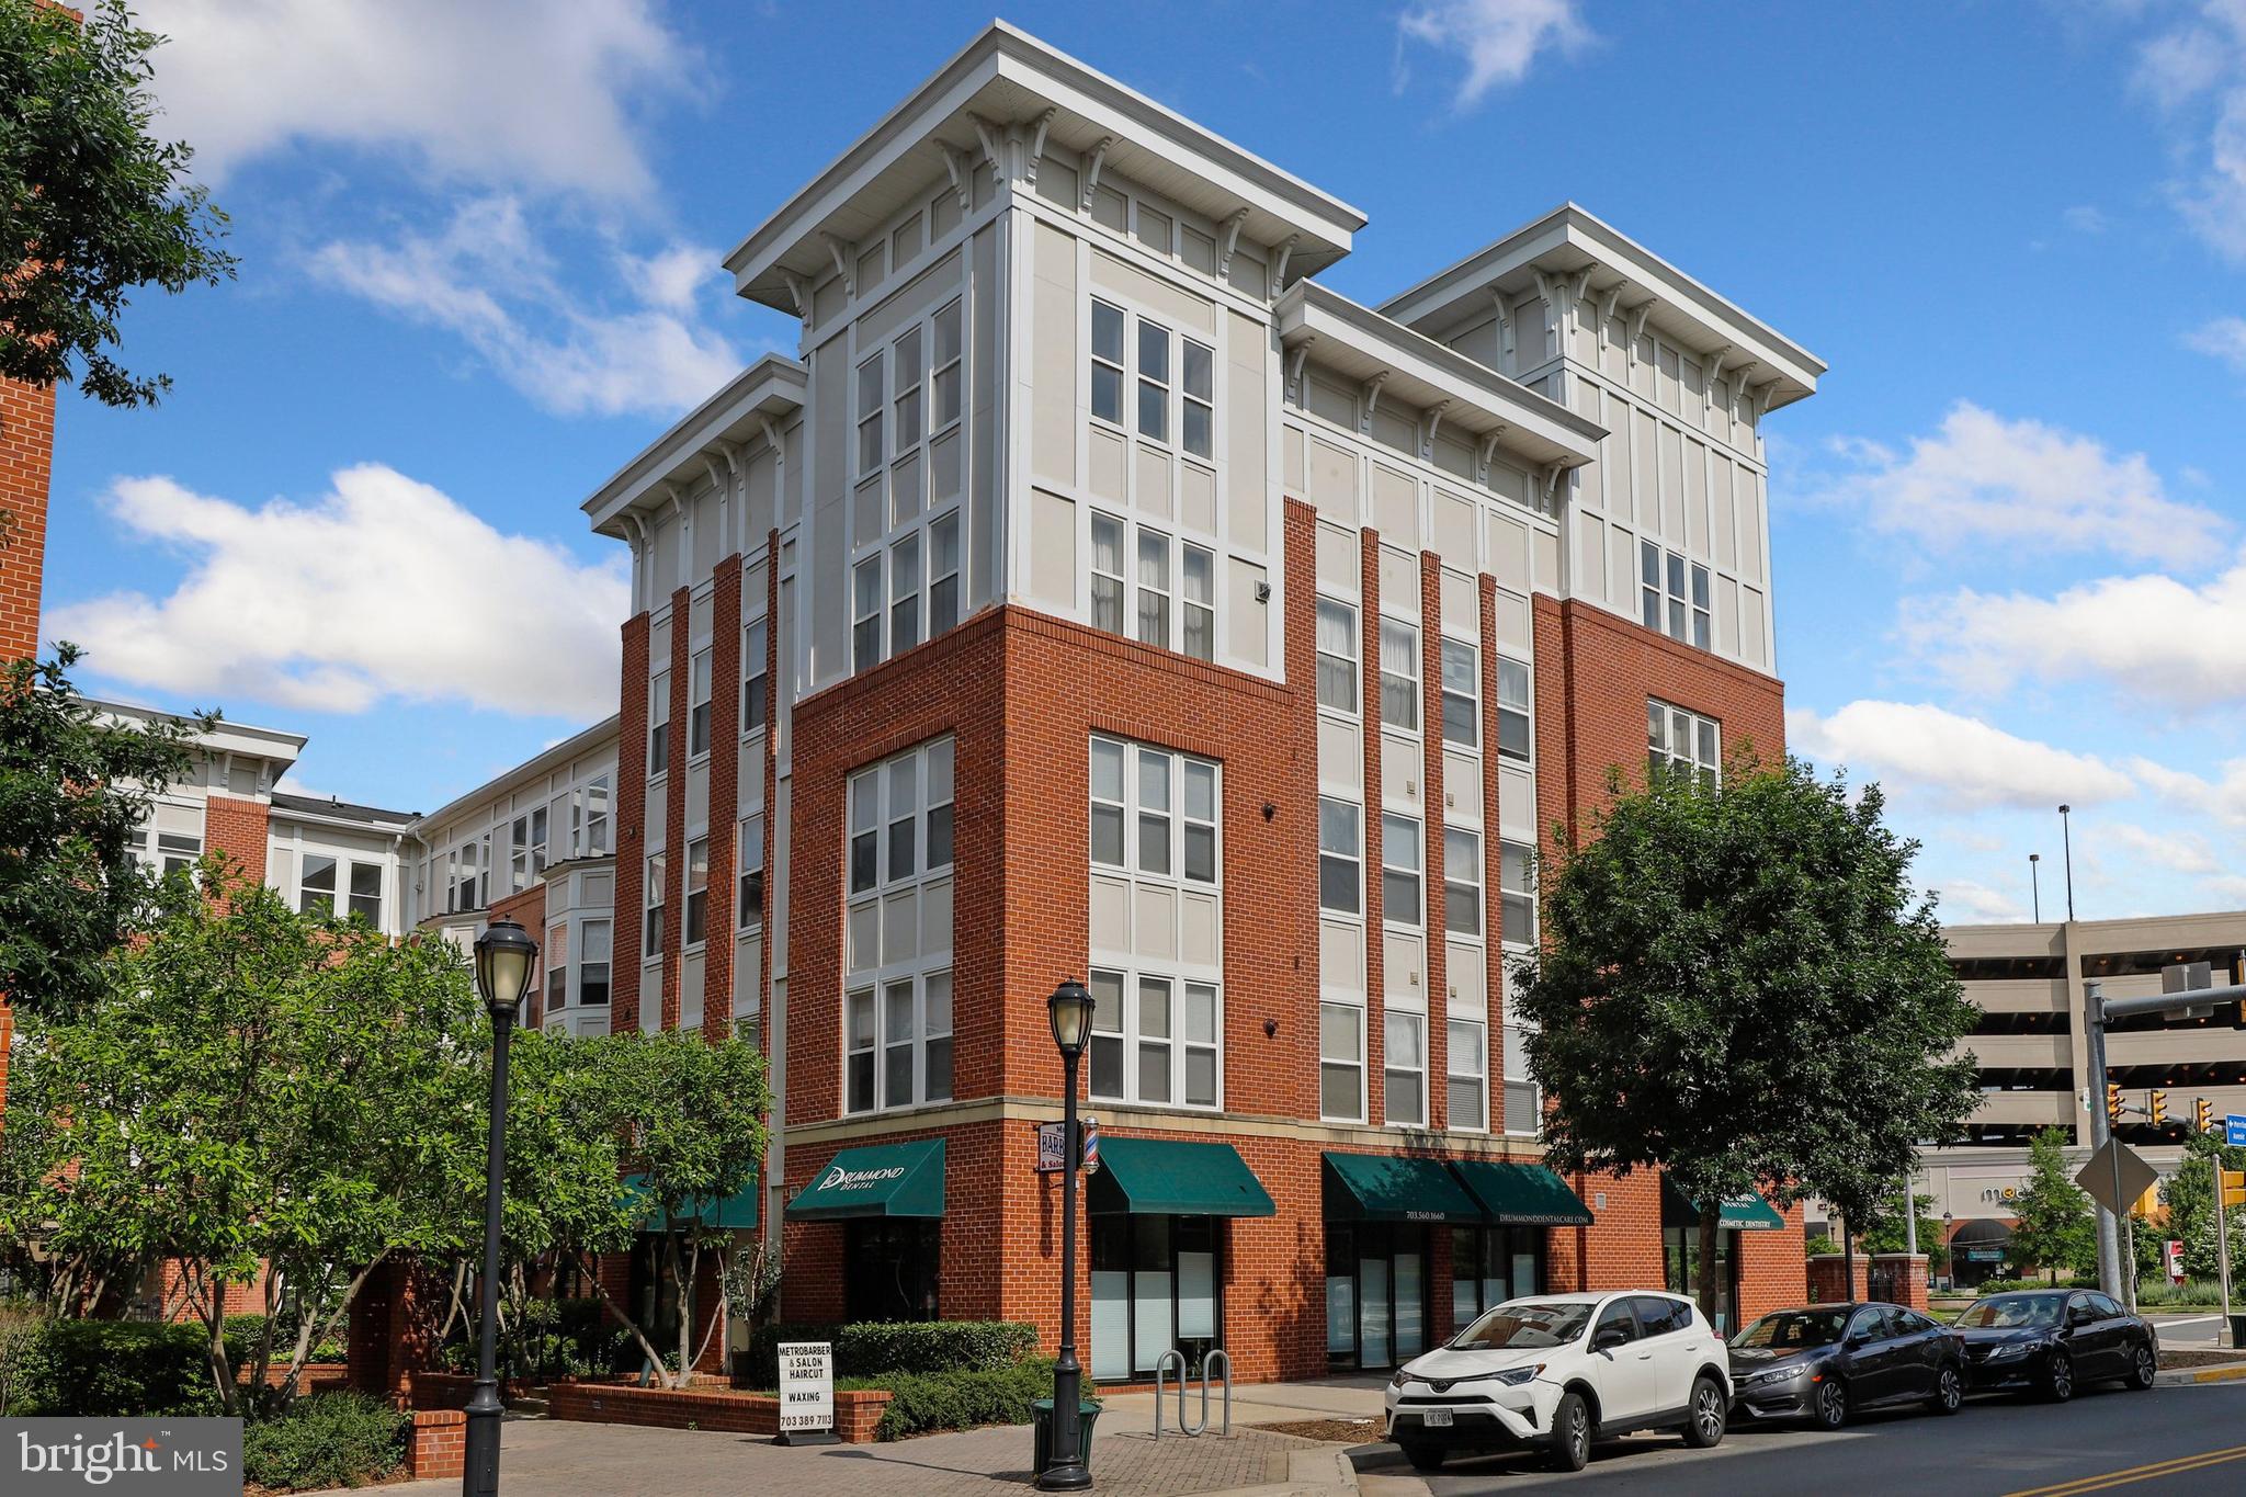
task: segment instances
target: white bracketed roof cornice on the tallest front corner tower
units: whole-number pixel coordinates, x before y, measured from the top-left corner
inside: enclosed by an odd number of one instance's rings
[[[1242,229],[1253,240],[1278,245],[1298,236],[1289,263],[1305,274],[1345,256],[1350,236],[1366,227],[1366,215],[1348,202],[993,20],[725,256],[734,290],[750,301],[802,312],[788,278],[818,281],[831,267],[824,236],[853,240],[867,218],[878,218],[853,209],[869,189],[903,186],[898,173],[912,184],[943,175],[946,150],[979,155],[982,141],[968,114],[1013,123],[1044,110],[1053,110],[1047,141],[1085,150],[1112,139],[1107,164],[1116,173],[1148,180],[1148,186],[1220,222],[1247,209]]]

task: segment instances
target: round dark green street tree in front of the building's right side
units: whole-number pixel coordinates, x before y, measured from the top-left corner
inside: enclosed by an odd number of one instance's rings
[[[1660,1167],[1702,1203],[1817,1194],[1864,1221],[1979,1100],[1972,1030],[1918,844],[1797,759],[1658,772],[1556,833],[1539,956],[1516,963],[1530,1071],[1565,1169]],[[1716,1302],[1716,1212],[1700,1212]]]

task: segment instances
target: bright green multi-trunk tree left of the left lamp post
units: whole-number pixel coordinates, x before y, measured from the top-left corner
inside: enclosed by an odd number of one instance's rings
[[[209,1333],[229,1414],[265,1398],[395,1252],[458,1248],[481,1181],[483,1026],[460,954],[296,913],[220,857],[173,873],[146,938],[83,1014],[34,1017],[11,1057],[0,1230],[47,1234],[56,1297],[90,1313],[159,1273]],[[263,1284],[236,1367],[227,1291]],[[283,1340],[285,1335],[285,1340]]]

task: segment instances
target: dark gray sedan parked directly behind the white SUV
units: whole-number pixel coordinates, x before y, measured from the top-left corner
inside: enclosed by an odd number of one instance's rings
[[[1732,1338],[1732,1385],[1741,1414],[1824,1430],[1905,1403],[1956,1414],[1965,1349],[1947,1326],[1900,1304],[1804,1304]]]

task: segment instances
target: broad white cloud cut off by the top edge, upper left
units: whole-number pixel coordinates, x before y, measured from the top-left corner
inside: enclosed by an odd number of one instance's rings
[[[162,128],[195,173],[301,141],[478,184],[642,200],[638,99],[694,90],[651,0],[144,0]]]

